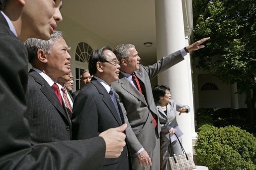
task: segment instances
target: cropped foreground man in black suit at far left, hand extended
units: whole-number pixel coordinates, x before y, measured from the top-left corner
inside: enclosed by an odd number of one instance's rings
[[[124,125],[88,140],[31,146],[30,128],[24,117],[28,57],[22,42],[31,37],[49,40],[57,22],[62,21],[61,6],[61,0],[0,0],[1,170],[79,170],[95,159],[93,166],[98,169],[104,157],[117,158],[125,145]]]

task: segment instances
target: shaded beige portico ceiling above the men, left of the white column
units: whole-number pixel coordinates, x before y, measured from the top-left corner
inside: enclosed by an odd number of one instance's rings
[[[155,0],[63,0],[61,12],[113,44],[134,44],[143,64],[156,61]]]

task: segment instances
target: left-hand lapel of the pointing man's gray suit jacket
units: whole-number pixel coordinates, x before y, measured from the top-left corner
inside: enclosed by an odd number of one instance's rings
[[[121,83],[121,87],[126,90],[128,93],[139,99],[141,102],[143,102],[145,105],[148,105],[145,97],[139,92],[136,87],[134,87],[127,78],[123,76],[122,73],[119,75],[118,83]],[[144,89],[143,89],[144,90]],[[144,91],[145,92],[145,91]]]

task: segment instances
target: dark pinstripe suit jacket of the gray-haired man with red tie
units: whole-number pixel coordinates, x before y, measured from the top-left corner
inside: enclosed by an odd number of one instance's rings
[[[36,71],[30,70],[27,112],[32,144],[72,140],[71,120],[52,87]]]

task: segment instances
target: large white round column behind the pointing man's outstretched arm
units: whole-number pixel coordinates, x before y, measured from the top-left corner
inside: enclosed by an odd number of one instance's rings
[[[157,56],[160,59],[186,46],[181,0],[155,0]],[[189,55],[180,63],[159,74],[158,84],[171,88],[174,101],[189,105],[191,97],[191,71]],[[190,78],[189,78],[190,75]],[[193,114],[193,113],[192,113]],[[177,121],[183,131],[182,143],[186,152],[192,153],[191,113],[177,114]]]

